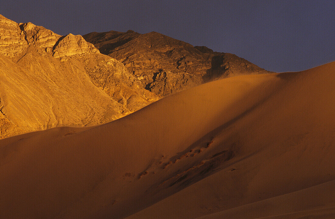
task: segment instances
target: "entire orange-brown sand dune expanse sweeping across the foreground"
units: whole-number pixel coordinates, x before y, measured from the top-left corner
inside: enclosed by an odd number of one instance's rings
[[[230,77],[2,139],[0,218],[334,218],[334,71]]]

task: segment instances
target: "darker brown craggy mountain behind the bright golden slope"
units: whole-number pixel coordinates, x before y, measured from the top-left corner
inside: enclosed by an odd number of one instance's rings
[[[121,61],[143,88],[160,97],[217,79],[270,73],[234,54],[192,46],[157,32],[92,32],[83,37],[101,53]]]

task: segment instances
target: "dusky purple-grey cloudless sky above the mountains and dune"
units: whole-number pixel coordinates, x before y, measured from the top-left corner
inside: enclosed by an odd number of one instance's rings
[[[275,72],[335,61],[335,1],[12,1],[0,14],[65,35],[156,31]]]

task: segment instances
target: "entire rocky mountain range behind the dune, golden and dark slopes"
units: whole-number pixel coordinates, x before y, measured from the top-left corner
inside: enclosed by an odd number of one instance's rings
[[[103,124],[204,82],[269,73],[156,32],[61,36],[2,15],[0,29],[0,138]]]

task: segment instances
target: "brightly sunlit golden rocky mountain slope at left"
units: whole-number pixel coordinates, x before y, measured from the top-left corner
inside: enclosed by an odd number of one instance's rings
[[[102,124],[157,99],[82,36],[0,15],[0,138]]]

